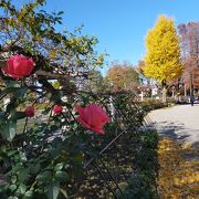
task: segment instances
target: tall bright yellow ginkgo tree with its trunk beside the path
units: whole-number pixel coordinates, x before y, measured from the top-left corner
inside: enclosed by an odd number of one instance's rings
[[[166,102],[168,82],[178,78],[184,71],[180,63],[179,38],[174,20],[160,15],[146,36],[144,73],[163,85],[163,102]]]

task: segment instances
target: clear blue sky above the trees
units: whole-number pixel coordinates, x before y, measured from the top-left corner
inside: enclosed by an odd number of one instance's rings
[[[199,0],[46,0],[45,9],[63,10],[63,24],[70,30],[83,23],[83,33],[98,38],[96,50],[109,54],[108,63],[134,65],[143,57],[144,38],[159,14],[174,17],[176,24],[199,21]]]

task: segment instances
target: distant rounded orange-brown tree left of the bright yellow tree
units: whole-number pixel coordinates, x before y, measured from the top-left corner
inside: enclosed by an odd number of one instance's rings
[[[106,80],[114,91],[135,91],[139,85],[139,75],[129,63],[114,63],[107,71]]]

